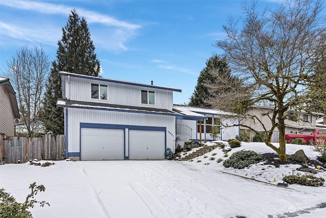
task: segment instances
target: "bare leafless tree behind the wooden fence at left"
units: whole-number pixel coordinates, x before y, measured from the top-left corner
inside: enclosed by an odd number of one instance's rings
[[[22,47],[7,61],[2,73],[10,79],[17,94],[21,122],[26,136],[37,134],[38,116],[42,106],[45,85],[50,71],[50,61],[42,46]]]

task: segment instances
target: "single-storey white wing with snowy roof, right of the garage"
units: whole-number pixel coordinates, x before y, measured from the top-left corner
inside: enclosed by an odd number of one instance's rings
[[[228,140],[235,138],[239,135],[239,127],[235,126],[239,124],[238,118],[231,118],[232,114],[218,110],[208,108],[189,107],[182,105],[174,105],[173,110],[191,115],[200,114],[204,117],[204,120],[176,120],[176,135],[180,141],[199,141],[202,140]],[[201,125],[201,128],[200,128]],[[218,126],[220,129],[220,137],[211,137],[212,129],[214,126]],[[229,127],[227,127],[229,126]]]

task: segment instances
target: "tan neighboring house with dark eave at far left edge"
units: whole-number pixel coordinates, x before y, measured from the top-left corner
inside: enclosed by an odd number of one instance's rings
[[[9,79],[0,77],[0,133],[15,135],[15,119],[19,118],[15,91]]]

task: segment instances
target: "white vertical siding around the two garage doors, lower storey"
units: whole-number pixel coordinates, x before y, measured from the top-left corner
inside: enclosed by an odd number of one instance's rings
[[[167,148],[175,151],[175,117],[131,112],[68,108],[68,152],[80,152],[80,123],[166,127]],[[146,140],[146,138],[144,139]],[[155,143],[155,142],[153,142]]]

